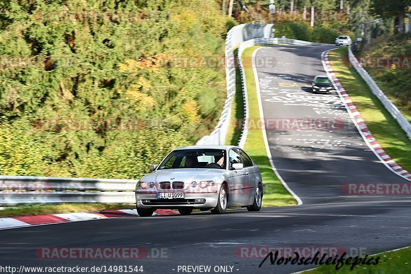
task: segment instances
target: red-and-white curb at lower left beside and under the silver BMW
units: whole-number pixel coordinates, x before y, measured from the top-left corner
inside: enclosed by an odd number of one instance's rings
[[[175,215],[177,211],[158,209],[153,215]],[[58,213],[0,218],[0,230],[27,226],[60,224],[67,222],[91,221],[107,218],[128,218],[138,216],[136,209],[114,209],[93,212]]]

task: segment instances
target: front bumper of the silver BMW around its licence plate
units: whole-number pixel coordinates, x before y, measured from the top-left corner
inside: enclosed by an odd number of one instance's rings
[[[217,191],[191,193],[184,192],[183,199],[159,199],[156,191],[145,193],[136,191],[136,205],[141,209],[162,208],[162,209],[178,209],[184,207],[210,209],[217,206],[218,193]],[[204,199],[204,201],[196,201],[196,199]]]

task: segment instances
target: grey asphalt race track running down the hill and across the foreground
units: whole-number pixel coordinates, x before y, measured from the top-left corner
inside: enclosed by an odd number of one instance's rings
[[[214,266],[228,265],[234,273],[290,273],[313,265],[265,262],[259,268],[262,258],[241,258],[236,250],[338,247],[372,254],[410,245],[411,200],[407,196],[343,193],[348,182],[407,181],[384,167],[368,149],[337,95],[309,92],[311,79],[325,74],[320,57],[329,48],[272,46],[256,53],[257,59],[273,58],[257,68],[266,119],[338,117],[345,121],[333,131],[267,130],[275,166],[303,205],[264,208],[257,213],[239,209],[225,215],[203,212],[3,230],[1,265],[142,265],[143,273],[182,273],[177,271],[179,265],[211,265],[213,273]],[[145,247],[149,255],[156,253],[153,248],[166,248],[166,255],[138,260],[45,260],[35,255],[39,247]]]

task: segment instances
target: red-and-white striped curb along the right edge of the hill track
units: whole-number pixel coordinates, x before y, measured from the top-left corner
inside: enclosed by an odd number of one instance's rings
[[[368,147],[371,149],[372,152],[376,154],[376,156],[380,159],[384,165],[396,173],[397,175],[410,180],[411,181],[411,174],[403,169],[397,162],[395,162],[389,155],[384,151],[381,145],[377,142],[377,140],[372,136],[372,133],[369,131],[365,121],[362,119],[360,112],[358,111],[356,105],[350,99],[347,91],[344,89],[343,85],[340,83],[340,80],[335,76],[335,72],[330,65],[330,61],[328,60],[328,52],[330,50],[326,50],[321,54],[321,59],[323,62],[323,66],[325,71],[327,72],[328,77],[334,84],[335,90],[337,90],[338,95],[340,96],[341,100],[343,101],[349,115],[352,118],[352,121],[356,125],[358,131],[360,132],[361,136],[367,143]]]

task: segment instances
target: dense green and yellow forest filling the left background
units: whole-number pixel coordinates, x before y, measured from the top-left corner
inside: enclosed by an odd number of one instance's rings
[[[215,126],[225,74],[207,58],[235,23],[214,0],[0,10],[0,174],[138,178]]]

